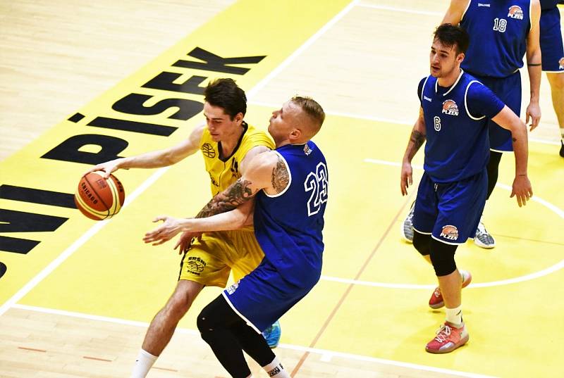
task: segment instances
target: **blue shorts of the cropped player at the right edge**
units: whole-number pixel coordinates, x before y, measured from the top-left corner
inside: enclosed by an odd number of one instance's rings
[[[541,13],[542,70],[547,73],[564,72],[564,46],[560,31],[560,11],[548,9]]]

